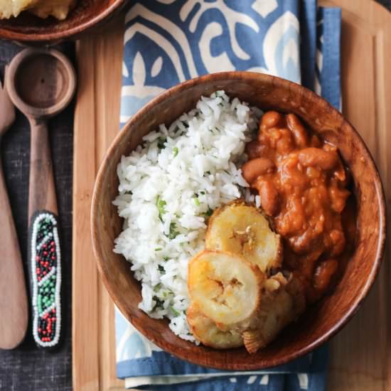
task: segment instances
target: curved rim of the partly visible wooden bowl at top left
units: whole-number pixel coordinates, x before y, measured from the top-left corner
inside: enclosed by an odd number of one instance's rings
[[[18,33],[9,28],[0,26],[0,38],[8,39],[18,42],[52,42],[60,41],[64,38],[73,38],[74,36],[83,33],[88,28],[95,26],[100,21],[104,20],[112,14],[115,10],[119,9],[126,0],[114,0],[110,6],[108,6],[100,14],[95,15],[84,23],[77,24],[73,27],[67,28],[63,31],[47,32],[47,33]],[[66,20],[66,19],[65,19]],[[58,21],[61,23],[62,21]]]

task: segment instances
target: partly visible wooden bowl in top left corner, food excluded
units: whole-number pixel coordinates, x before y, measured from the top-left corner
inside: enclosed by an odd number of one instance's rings
[[[55,43],[96,26],[111,15],[125,0],[77,0],[68,17],[58,21],[43,19],[23,11],[17,18],[0,20],[0,38],[19,42]]]

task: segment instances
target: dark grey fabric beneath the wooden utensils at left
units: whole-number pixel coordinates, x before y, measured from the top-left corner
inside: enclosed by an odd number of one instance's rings
[[[72,60],[73,43],[58,46]],[[14,43],[0,41],[0,73],[4,65],[22,48]],[[33,76],[33,75],[32,75]],[[52,147],[55,185],[57,189],[63,264],[63,341],[55,353],[46,353],[36,347],[31,326],[25,341],[15,350],[0,350],[0,390],[53,391],[72,389],[71,356],[71,249],[72,249],[72,157],[73,157],[72,103],[58,117],[52,119],[50,145]],[[16,121],[1,143],[2,163],[9,191],[11,208],[21,246],[25,275],[27,276],[27,203],[30,159],[30,132],[26,118],[17,112]],[[1,207],[1,205],[0,205]],[[29,288],[28,288],[29,289]],[[30,295],[29,295],[30,296]],[[0,314],[1,316],[1,314]]]

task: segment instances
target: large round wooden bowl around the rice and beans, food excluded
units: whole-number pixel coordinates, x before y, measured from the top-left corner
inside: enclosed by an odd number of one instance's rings
[[[225,90],[231,97],[262,109],[293,112],[338,146],[350,167],[358,201],[358,245],[333,294],[311,306],[267,348],[250,355],[244,348],[215,350],[176,337],[168,322],[149,318],[137,308],[141,287],[129,262],[114,254],[114,238],[122,219],[112,200],[117,195],[117,164],[141,138],[159,124],[171,124],[195,107],[201,95]],[[92,199],[92,242],[105,286],[122,314],[162,349],[191,363],[222,370],[259,370],[286,363],[328,341],[352,318],[368,294],[380,268],[385,247],[385,197],[379,173],[363,140],[331,105],[306,88],[259,73],[215,73],[183,82],[151,100],[132,119],[109,148],[95,183]]]

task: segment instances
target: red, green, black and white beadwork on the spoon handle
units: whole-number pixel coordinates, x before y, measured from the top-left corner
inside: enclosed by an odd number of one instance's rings
[[[33,337],[38,346],[51,348],[60,339],[61,264],[55,215],[38,213],[31,232],[33,279]]]

